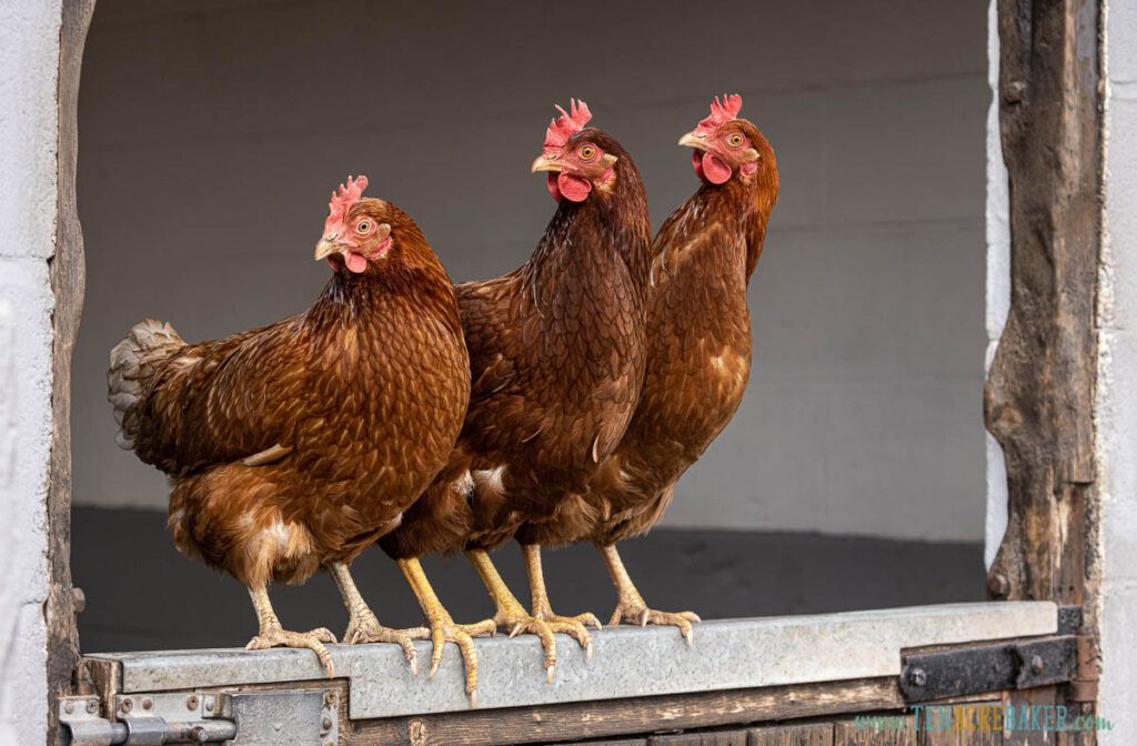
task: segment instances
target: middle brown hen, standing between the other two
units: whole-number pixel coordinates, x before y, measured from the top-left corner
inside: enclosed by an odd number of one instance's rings
[[[399,561],[439,639],[462,639],[422,577],[417,557],[463,549],[497,607],[493,621],[540,636],[551,680],[553,632],[590,649],[596,617],[531,616],[488,550],[526,521],[554,519],[620,442],[642,382],[644,289],[652,227],[631,157],[595,127],[588,107],[562,110],[534,172],[557,209],[529,262],[457,288],[470,347],[470,411],[450,463],[381,546]],[[441,654],[434,649],[435,661]],[[433,668],[433,666],[432,666]],[[476,668],[467,660],[467,691]]]

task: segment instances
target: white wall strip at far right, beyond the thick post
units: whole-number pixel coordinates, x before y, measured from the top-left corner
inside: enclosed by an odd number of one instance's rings
[[[1105,215],[1098,295],[1097,459],[1102,495],[1102,744],[1137,728],[1137,7],[1107,0]]]

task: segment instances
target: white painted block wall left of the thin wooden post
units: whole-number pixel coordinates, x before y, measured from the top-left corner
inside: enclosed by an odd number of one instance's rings
[[[59,1],[0,0],[0,744],[47,727]]]

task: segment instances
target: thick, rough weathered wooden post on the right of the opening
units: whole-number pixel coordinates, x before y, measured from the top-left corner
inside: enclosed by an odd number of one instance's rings
[[[1094,387],[1101,243],[1099,0],[999,0],[1011,309],[984,396],[1009,525],[995,598],[1082,604],[1096,630]]]

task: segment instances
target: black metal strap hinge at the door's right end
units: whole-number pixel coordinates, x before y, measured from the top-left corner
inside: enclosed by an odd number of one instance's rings
[[[906,702],[927,702],[1073,681],[1077,640],[1061,635],[908,655],[901,671],[901,693]]]

